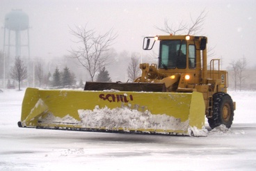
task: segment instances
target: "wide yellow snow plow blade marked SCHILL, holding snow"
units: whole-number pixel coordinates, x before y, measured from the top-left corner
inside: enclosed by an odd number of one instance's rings
[[[206,136],[200,92],[27,88],[19,127]]]

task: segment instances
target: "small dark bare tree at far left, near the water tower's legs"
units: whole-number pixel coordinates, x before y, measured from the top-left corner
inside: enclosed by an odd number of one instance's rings
[[[10,76],[18,81],[20,90],[20,83],[28,77],[28,70],[19,56],[15,58],[15,65],[10,69]]]

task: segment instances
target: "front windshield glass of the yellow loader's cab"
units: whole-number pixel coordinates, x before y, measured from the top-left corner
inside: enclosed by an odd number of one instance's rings
[[[186,68],[186,41],[162,40],[159,67],[164,69]]]

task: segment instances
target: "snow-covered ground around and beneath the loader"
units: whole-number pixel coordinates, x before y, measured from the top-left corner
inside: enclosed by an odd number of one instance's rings
[[[22,129],[23,95],[0,92],[0,170],[256,170],[256,92],[230,92],[232,128],[200,138]]]

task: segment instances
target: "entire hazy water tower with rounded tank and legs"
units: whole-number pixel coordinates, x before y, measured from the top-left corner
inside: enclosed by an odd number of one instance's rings
[[[4,18],[3,29],[3,56],[5,60],[3,85],[5,85],[6,76],[9,75],[10,70],[10,58],[25,55],[30,58],[29,15],[26,15],[22,10],[12,10],[10,13],[7,13]],[[27,48],[26,54],[22,54],[22,47]],[[13,49],[15,49],[15,51],[13,51]]]

